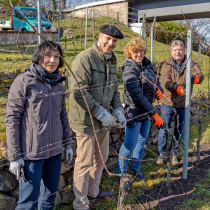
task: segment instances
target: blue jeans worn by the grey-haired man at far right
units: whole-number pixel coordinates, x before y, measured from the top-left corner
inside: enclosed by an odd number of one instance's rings
[[[166,104],[162,104],[161,114],[164,124],[166,125],[167,128],[171,127],[171,121],[174,117],[175,124],[174,124],[173,135],[175,136],[177,142],[176,143],[174,142],[175,145],[173,149],[173,154],[177,154],[177,150],[183,136],[185,108],[174,108]],[[159,130],[159,136],[158,136],[158,152],[160,155],[166,154],[167,142],[168,142],[168,131],[166,130],[166,128],[161,128]]]

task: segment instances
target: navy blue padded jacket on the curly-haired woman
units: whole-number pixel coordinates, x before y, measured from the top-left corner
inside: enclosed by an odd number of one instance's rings
[[[149,116],[156,113],[152,103],[155,100],[156,91],[160,89],[163,92],[163,89],[152,63],[146,57],[142,65],[132,58],[126,58],[122,67],[123,102],[127,107],[127,119],[130,119],[127,126],[132,126],[133,122],[147,120]],[[134,119],[131,120],[132,118]]]

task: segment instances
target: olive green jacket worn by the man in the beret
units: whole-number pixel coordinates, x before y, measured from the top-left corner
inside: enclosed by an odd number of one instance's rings
[[[102,124],[94,116],[100,106],[107,111],[122,107],[118,92],[116,57],[106,60],[96,44],[79,53],[72,62],[71,70],[83,90],[90,112],[93,116],[95,129]],[[90,115],[72,74],[69,76],[69,120],[70,126],[83,133],[93,132]]]

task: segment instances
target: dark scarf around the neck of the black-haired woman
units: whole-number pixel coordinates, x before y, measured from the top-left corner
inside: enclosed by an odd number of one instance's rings
[[[59,70],[56,69],[53,73],[49,73],[44,67],[39,64],[34,64],[39,76],[50,85],[63,82],[66,78],[59,75]]]

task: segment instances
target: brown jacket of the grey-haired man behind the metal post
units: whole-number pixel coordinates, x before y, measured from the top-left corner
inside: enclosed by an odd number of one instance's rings
[[[172,57],[170,57],[162,66],[161,69],[161,85],[164,90],[164,95],[162,98],[162,103],[175,107],[175,108],[184,108],[185,107],[185,95],[179,96],[176,91],[169,91],[166,89],[165,85],[168,81],[176,82],[178,85],[181,85],[183,89],[186,88],[186,67],[187,67],[187,59],[185,56],[185,65],[179,74],[174,67],[174,61]],[[197,75],[199,77],[199,84],[203,81],[204,76],[200,70],[200,67],[197,63],[192,61],[192,69],[191,75]],[[191,92],[193,90],[193,83],[191,87]]]

